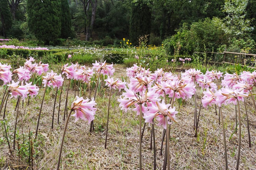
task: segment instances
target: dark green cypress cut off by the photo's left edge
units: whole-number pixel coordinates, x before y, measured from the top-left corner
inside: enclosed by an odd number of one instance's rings
[[[2,35],[6,38],[6,31],[12,27],[12,14],[7,0],[0,0],[0,17],[2,23]]]

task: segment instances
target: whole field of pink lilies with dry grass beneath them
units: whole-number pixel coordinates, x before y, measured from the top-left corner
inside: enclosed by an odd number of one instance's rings
[[[5,63],[2,169],[256,169],[256,71]]]

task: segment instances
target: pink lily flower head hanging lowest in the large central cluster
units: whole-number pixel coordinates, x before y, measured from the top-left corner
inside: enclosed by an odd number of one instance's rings
[[[153,103],[148,107],[148,112],[144,113],[143,118],[145,119],[145,122],[152,123],[152,120],[156,117],[159,122],[157,126],[162,125],[164,129],[166,129],[167,124],[164,120],[164,117],[167,116],[167,120],[172,119],[175,121],[175,115],[178,113],[178,111],[175,111],[176,108],[171,108],[170,105],[171,104],[165,104],[164,100],[162,100],[162,103]],[[170,124],[169,121],[168,124]]]

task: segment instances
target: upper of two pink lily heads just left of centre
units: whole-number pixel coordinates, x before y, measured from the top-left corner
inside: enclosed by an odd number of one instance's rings
[[[115,72],[115,68],[113,67],[113,63],[110,65],[107,65],[106,61],[103,63],[95,61],[95,63],[92,63],[93,69],[96,69],[97,73],[103,74],[103,75],[113,75]]]

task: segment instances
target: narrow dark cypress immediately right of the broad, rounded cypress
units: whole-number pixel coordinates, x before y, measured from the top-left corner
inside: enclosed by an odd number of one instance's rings
[[[61,0],[61,38],[68,38],[71,35],[71,14],[68,0]]]

